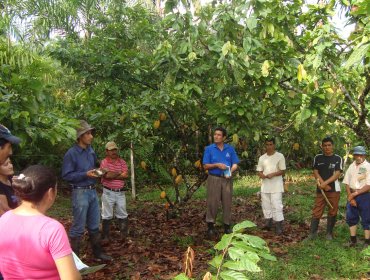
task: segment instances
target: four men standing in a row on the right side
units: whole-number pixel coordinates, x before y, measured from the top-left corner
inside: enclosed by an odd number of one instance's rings
[[[226,130],[218,127],[214,131],[214,143],[207,146],[203,166],[208,170],[207,178],[207,237],[215,235],[215,220],[219,204],[222,204],[224,233],[230,233],[233,173],[238,169],[239,159],[235,149],[226,144]],[[343,159],[334,153],[334,141],[326,137],[321,142],[322,153],[314,158],[313,175],[316,179],[316,197],[308,240],[317,237],[320,219],[328,207],[326,238],[333,239],[340,199],[339,177],[343,172]],[[261,205],[265,218],[262,227],[271,230],[275,226],[277,235],[283,233],[283,176],[286,171],[283,154],[276,151],[275,140],[265,141],[266,152],[259,157],[257,175],[261,178]],[[370,245],[370,163],[366,161],[366,149],[353,149],[354,162],[349,166],[343,179],[347,192],[346,222],[350,229],[349,246],[357,244],[357,225],[361,220],[364,229],[364,245]]]

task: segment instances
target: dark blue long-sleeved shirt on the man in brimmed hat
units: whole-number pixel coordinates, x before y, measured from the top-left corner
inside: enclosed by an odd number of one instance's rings
[[[75,144],[63,158],[62,178],[77,187],[95,185],[96,180],[86,172],[97,166],[97,157],[91,146],[86,149]]]

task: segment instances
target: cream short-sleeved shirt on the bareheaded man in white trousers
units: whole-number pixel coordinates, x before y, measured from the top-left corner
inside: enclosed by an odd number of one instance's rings
[[[285,170],[285,158],[283,154],[275,152],[272,155],[263,154],[258,159],[257,171],[262,171],[264,175]],[[283,176],[274,176],[271,179],[263,179],[261,192],[277,193],[284,192]]]

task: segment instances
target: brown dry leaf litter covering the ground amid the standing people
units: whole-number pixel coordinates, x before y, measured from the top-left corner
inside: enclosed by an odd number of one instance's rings
[[[199,200],[191,201],[176,215],[166,213],[162,204],[141,201],[131,203],[128,236],[122,239],[113,221],[111,241],[103,244],[105,252],[114,261],[108,263],[104,269],[84,276],[84,279],[173,279],[183,271],[183,256],[188,246],[195,251],[193,277],[202,279],[208,270],[208,262],[212,259],[213,246],[217,242],[205,239],[205,209],[205,202]],[[259,198],[235,198],[233,220],[234,223],[250,220],[262,226]],[[71,220],[62,219],[61,222],[68,231]],[[222,225],[216,228],[220,238]],[[285,222],[282,236],[258,228],[252,229],[249,234],[263,238],[276,256],[282,256],[287,253],[286,246],[300,242],[307,235],[308,229],[306,224]],[[80,257],[86,264],[99,264],[92,256],[86,236],[81,254]]]

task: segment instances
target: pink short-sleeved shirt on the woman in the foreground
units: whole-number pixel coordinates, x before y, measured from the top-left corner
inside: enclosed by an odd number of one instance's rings
[[[55,260],[72,254],[61,223],[44,215],[6,212],[0,218],[0,271],[4,279],[60,279]]]

